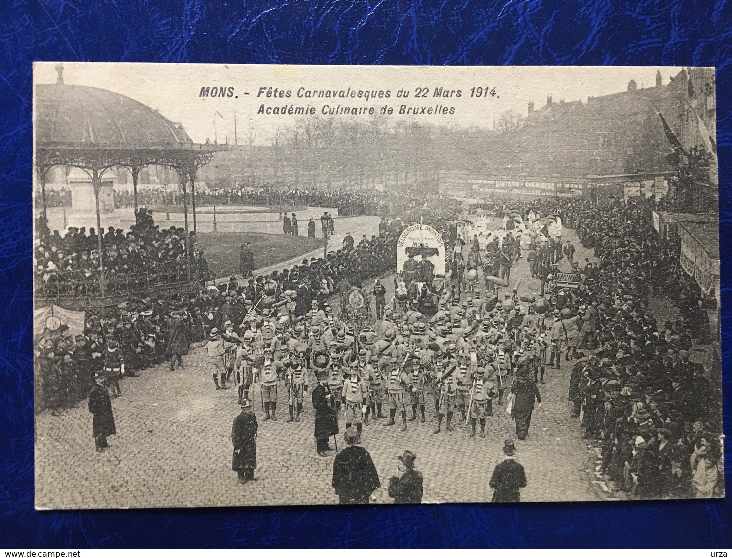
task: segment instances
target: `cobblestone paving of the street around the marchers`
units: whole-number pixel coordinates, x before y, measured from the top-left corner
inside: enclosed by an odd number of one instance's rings
[[[342,227],[343,228],[343,227]],[[360,232],[352,230],[358,241]],[[358,235],[356,235],[358,233]],[[591,257],[572,230],[564,231],[577,247],[580,262]],[[566,260],[562,265],[567,267]],[[521,277],[520,294],[537,294],[538,280],[530,279],[522,258],[512,273]],[[390,297],[393,286],[385,281]],[[365,285],[367,290],[372,285]],[[388,298],[387,298],[388,300]],[[539,385],[542,406],[534,410],[529,437],[516,440],[516,459],[526,468],[528,486],[523,501],[597,500],[604,497],[595,478],[595,456],[580,437],[578,419],[569,417],[567,383],[570,366],[547,369]],[[310,380],[310,386],[314,380]],[[122,382],[122,397],[112,401],[118,434],[111,449],[94,450],[91,414],[86,401],[61,416],[43,412],[36,417],[35,503],[37,508],[149,508],[240,505],[334,504],[332,463],[315,453],[313,407],[310,392],[299,423],[287,419],[286,393],[280,387],[277,421],[263,421],[259,385],[253,389],[259,421],[258,480],[240,485],[231,470],[231,423],[239,413],[236,390],[215,391],[203,347],[192,347],[184,366],[171,372],[161,365]],[[396,474],[396,456],[409,449],[417,453],[417,469],[424,475],[423,502],[490,502],[488,480],[502,459],[507,437],[515,426],[494,401],[486,438],[468,437],[468,426],[456,412],[454,432],[436,425],[427,404],[427,421],[386,427],[386,419],[364,427],[363,444],[381,478],[374,494],[388,503],[389,477]],[[388,415],[388,412],[385,412]],[[411,410],[409,411],[411,415]],[[340,415],[339,448],[343,448]],[[331,444],[333,441],[331,440]]]

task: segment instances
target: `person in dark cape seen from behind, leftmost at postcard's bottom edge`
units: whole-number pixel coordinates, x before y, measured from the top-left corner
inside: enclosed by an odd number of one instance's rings
[[[381,486],[376,465],[366,448],[357,445],[359,434],[353,427],[344,434],[346,448],[333,460],[335,494],[340,504],[367,504],[369,497]]]

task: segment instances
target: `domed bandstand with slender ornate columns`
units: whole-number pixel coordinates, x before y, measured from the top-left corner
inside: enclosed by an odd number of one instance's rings
[[[138,176],[148,165],[176,171],[183,197],[187,280],[191,281],[189,211],[196,229],[195,178],[215,151],[226,146],[196,144],[179,124],[130,97],[107,89],[64,83],[63,67],[56,67],[53,84],[35,86],[34,165],[40,188],[40,214],[48,222],[46,180],[49,171],[61,165],[76,167],[89,176],[86,184],[75,184],[72,198],[96,214],[97,252],[99,254],[99,297],[105,295],[104,250],[100,210],[111,197],[111,183],[105,173],[125,167],[132,175],[135,215],[138,214]],[[101,203],[101,208],[100,208]]]

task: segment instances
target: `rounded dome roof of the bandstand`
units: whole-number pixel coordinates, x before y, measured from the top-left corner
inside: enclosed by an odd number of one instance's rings
[[[124,148],[193,143],[156,110],[114,91],[89,86],[36,86],[36,143]]]

